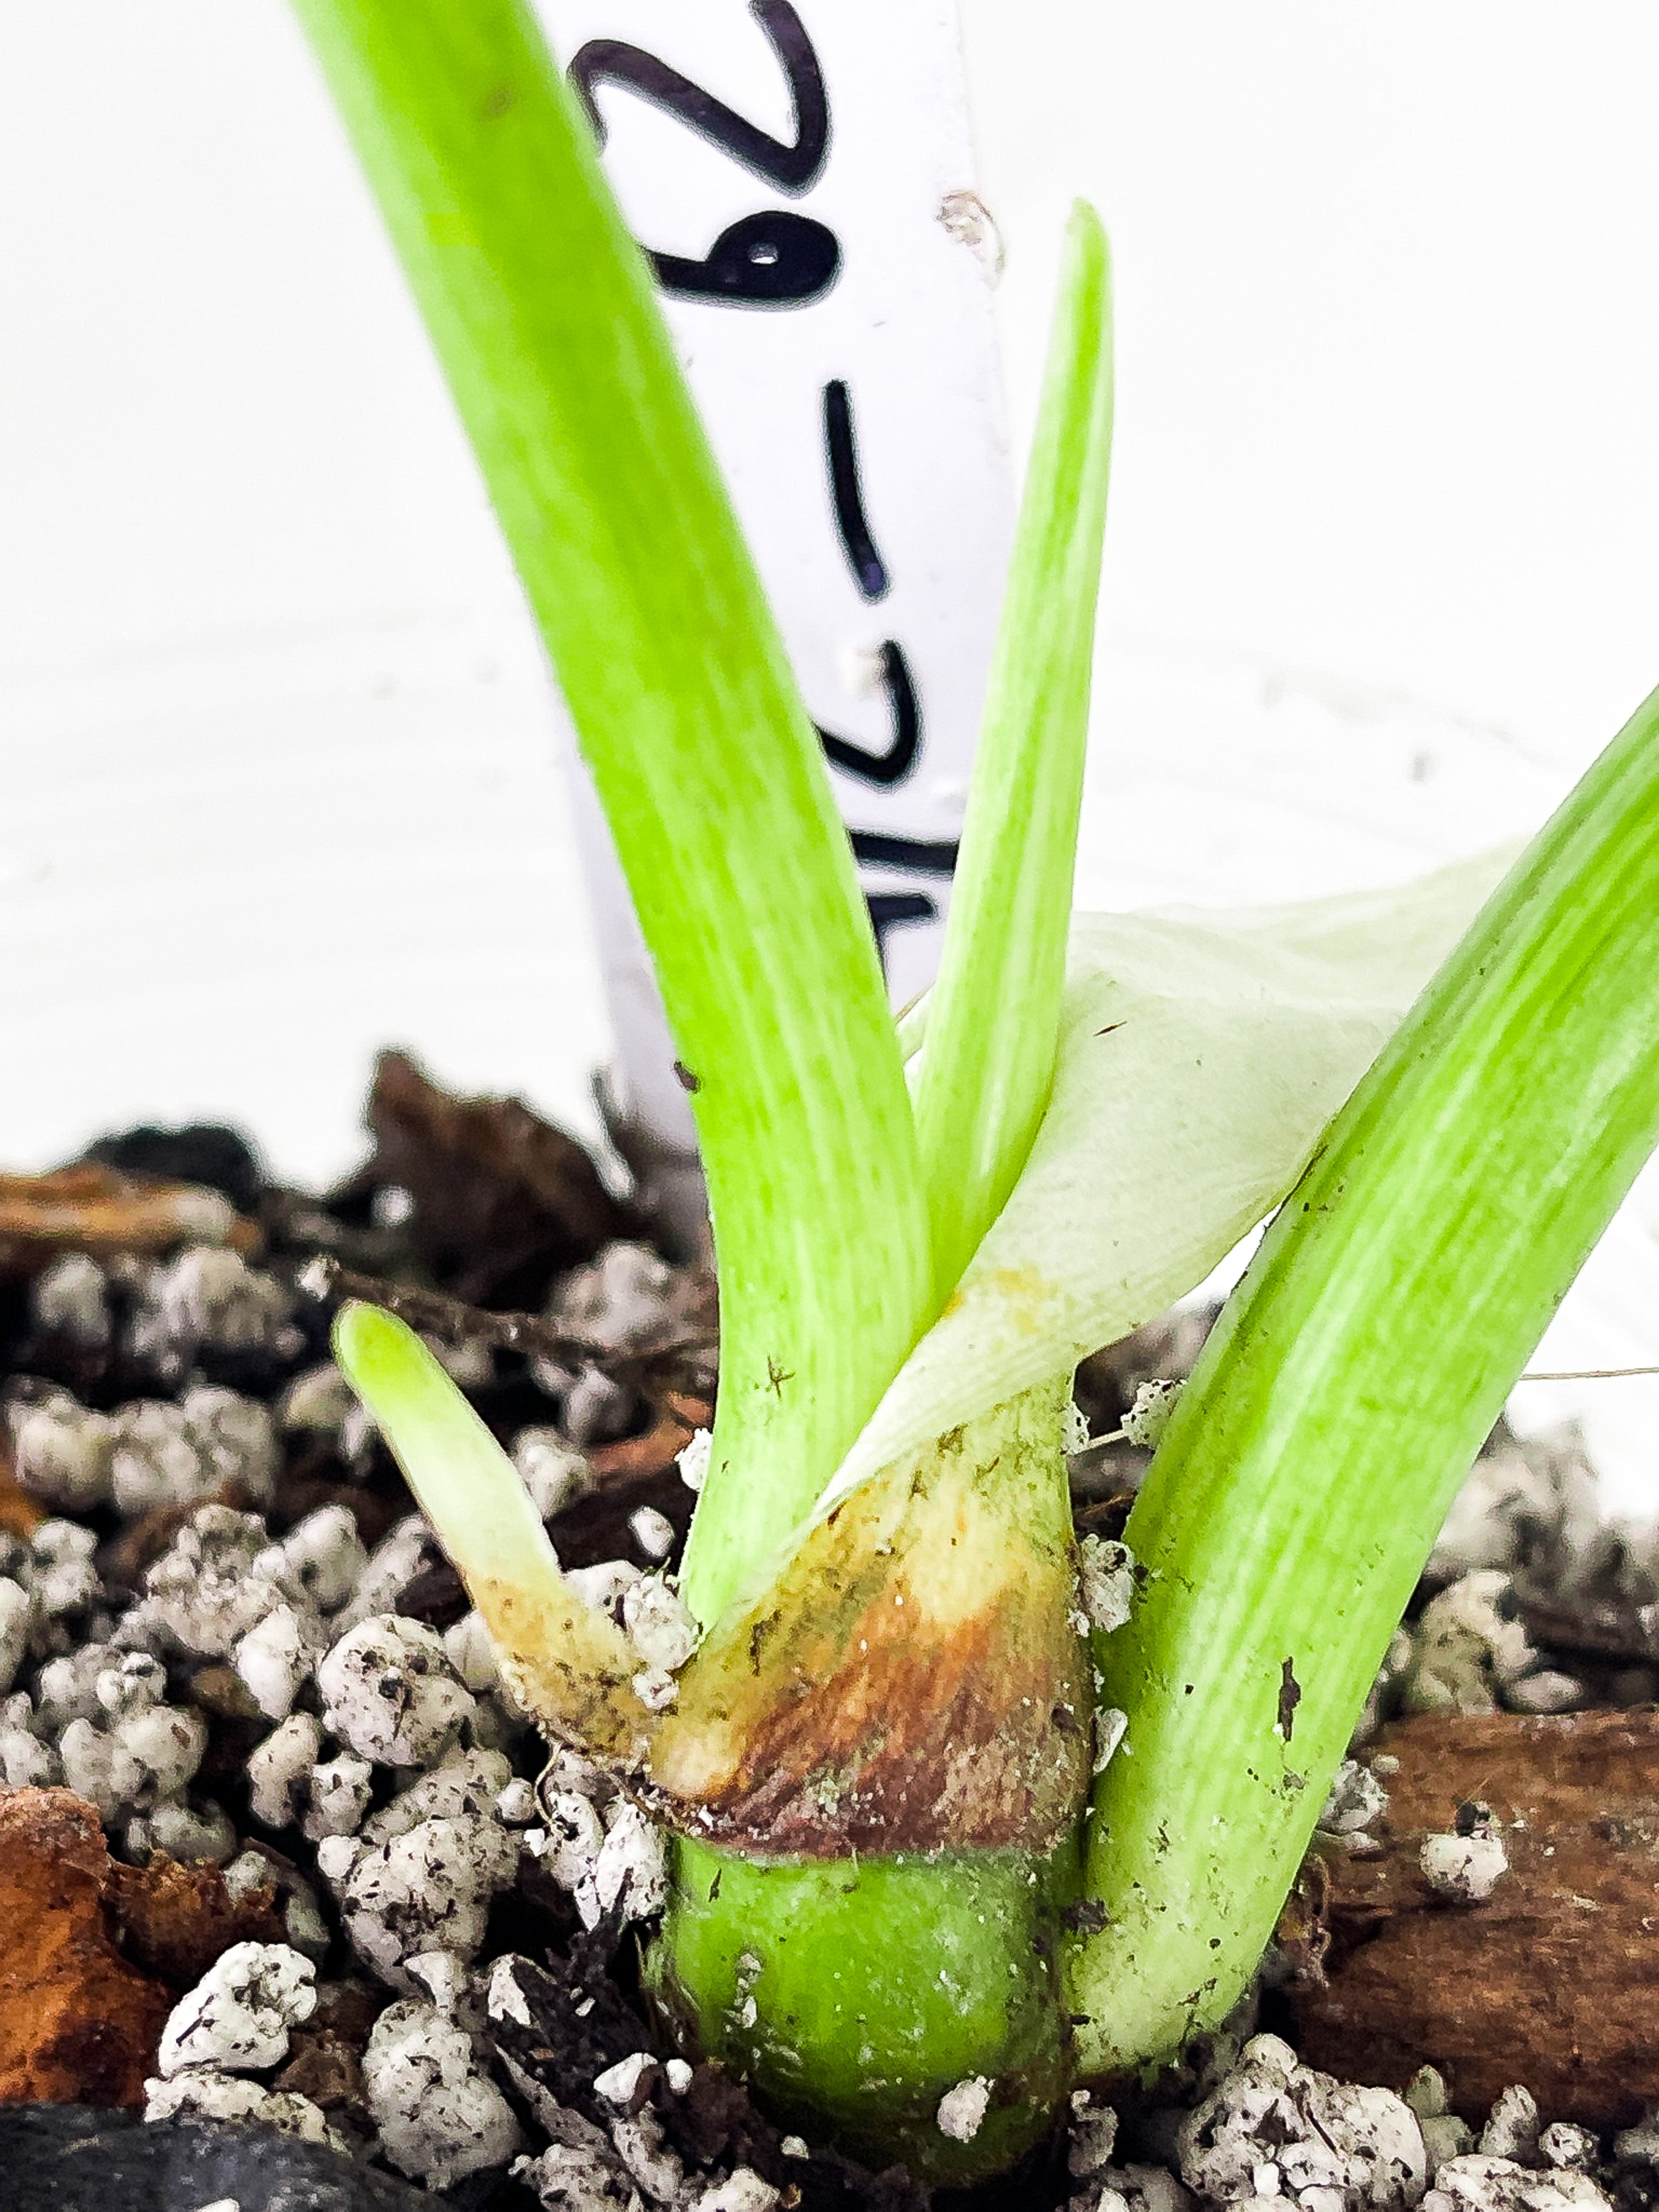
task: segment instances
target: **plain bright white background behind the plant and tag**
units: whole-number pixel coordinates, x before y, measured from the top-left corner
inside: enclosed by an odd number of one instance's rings
[[[1117,248],[1084,896],[1535,818],[1659,681],[1659,15],[964,20],[1015,447],[1073,192]],[[0,301],[0,1159],[217,1113],[321,1177],[392,1037],[584,1115],[535,646],[279,0],[2,0]],[[1652,1358],[1628,1245],[1584,1327]]]

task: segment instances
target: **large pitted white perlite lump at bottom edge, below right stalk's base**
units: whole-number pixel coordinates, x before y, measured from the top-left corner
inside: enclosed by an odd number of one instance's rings
[[[1177,2132],[1181,2179],[1214,2203],[1296,2197],[1305,2212],[1413,2205],[1427,2183],[1422,2130],[1387,2088],[1356,2088],[1256,2035]]]

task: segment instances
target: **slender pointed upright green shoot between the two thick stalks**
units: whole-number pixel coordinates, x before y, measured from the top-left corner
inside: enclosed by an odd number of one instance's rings
[[[1110,447],[1110,252],[1079,201],[916,1091],[940,1298],[1013,1190],[1053,1086]]]

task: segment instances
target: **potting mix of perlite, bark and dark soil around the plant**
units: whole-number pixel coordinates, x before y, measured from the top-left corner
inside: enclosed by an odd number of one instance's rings
[[[920,2212],[657,2048],[661,1843],[544,1774],[327,1363],[343,1296],[427,1332],[628,1621],[695,1504],[708,1272],[518,1102],[385,1055],[367,1124],[327,1194],[219,1128],[0,1177],[0,2201]],[[1208,1318],[1084,1363],[1091,1431]],[[1144,1467],[1077,1451],[1079,1531],[1117,1537]],[[940,2212],[1659,2203],[1652,1568],[1573,1438],[1500,1429],[1228,2033]]]

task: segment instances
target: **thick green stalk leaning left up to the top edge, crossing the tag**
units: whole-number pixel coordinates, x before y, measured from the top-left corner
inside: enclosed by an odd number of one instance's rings
[[[531,9],[296,11],[471,434],[697,1084],[723,1347],[686,1595],[710,1619],[927,1321],[874,940],[650,276]]]

